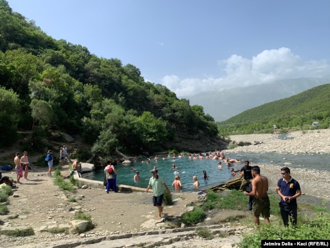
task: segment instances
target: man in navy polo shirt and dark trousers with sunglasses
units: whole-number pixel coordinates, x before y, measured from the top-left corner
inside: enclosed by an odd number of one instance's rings
[[[301,196],[302,191],[298,181],[294,180],[290,175],[290,169],[283,167],[281,169],[282,178],[277,182],[276,192],[281,197],[280,210],[285,227],[290,223],[292,226],[297,224],[297,200]]]

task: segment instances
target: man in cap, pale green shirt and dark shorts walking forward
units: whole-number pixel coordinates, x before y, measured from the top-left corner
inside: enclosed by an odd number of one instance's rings
[[[163,199],[163,190],[164,190],[163,187],[165,187],[165,189],[167,190],[169,195],[171,195],[171,191],[167,187],[164,179],[162,179],[160,176],[158,176],[157,169],[151,170],[151,173],[152,173],[152,177],[149,180],[149,184],[147,187],[147,193],[148,193],[150,187],[152,187],[152,192],[153,192],[152,201],[153,201],[153,205],[158,208],[158,218],[157,219],[160,220],[161,214],[162,214],[162,209],[163,209],[163,206],[161,206],[162,199]]]

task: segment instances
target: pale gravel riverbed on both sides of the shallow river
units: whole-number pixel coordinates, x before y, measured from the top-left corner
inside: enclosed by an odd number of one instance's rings
[[[230,153],[245,152],[279,152],[296,154],[298,152],[308,153],[330,153],[330,130],[309,130],[295,131],[286,135],[286,139],[278,139],[276,134],[251,134],[251,135],[232,135],[230,139],[236,142],[259,141],[262,144],[239,146],[230,150]],[[261,169],[261,175],[268,177],[270,182],[270,191],[275,191],[276,184],[280,175],[280,169],[284,166],[290,168],[289,163],[283,163],[283,166],[258,164]],[[327,191],[330,182],[330,172],[320,171],[309,168],[290,168],[291,175],[298,180],[302,193],[321,199],[330,200],[330,193]]]

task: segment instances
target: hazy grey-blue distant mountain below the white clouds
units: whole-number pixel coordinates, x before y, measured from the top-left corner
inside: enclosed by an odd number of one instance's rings
[[[321,78],[283,79],[268,84],[206,91],[186,97],[190,105],[201,105],[215,121],[223,121],[245,110],[291,97],[318,85],[330,83],[330,75]]]

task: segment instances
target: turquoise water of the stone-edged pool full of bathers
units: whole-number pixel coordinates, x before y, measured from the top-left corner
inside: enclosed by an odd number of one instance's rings
[[[158,169],[158,175],[161,176],[171,191],[175,191],[174,187],[172,187],[172,183],[174,181],[174,176],[180,175],[181,183],[183,186],[182,192],[191,192],[194,189],[192,185],[193,180],[192,176],[196,175],[197,179],[200,181],[200,188],[205,189],[212,185],[219,184],[220,182],[226,181],[227,179],[232,177],[227,166],[222,163],[222,170],[218,168],[219,160],[212,159],[189,159],[187,156],[182,158],[177,158],[173,160],[173,158],[166,158],[162,160],[159,158],[158,161],[154,161],[151,159],[150,163],[142,163],[141,159],[138,162],[131,163],[128,166],[124,166],[119,164],[115,166],[115,169],[118,172],[117,176],[117,184],[131,185],[140,188],[147,188],[149,179],[151,177],[150,170],[153,169],[154,166]],[[178,167],[177,169],[173,169],[172,165]],[[134,171],[131,171],[130,168],[133,167]],[[235,170],[238,170],[242,167],[242,164],[234,166]],[[134,182],[133,177],[136,171],[140,171],[141,179],[137,182]],[[176,170],[180,171],[180,174],[175,174]],[[202,179],[203,170],[206,170],[209,175],[208,180]],[[82,175],[83,178],[103,181],[104,179],[104,168],[97,168],[95,171],[86,173]]]

